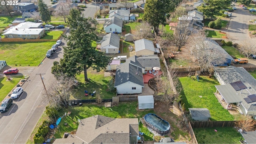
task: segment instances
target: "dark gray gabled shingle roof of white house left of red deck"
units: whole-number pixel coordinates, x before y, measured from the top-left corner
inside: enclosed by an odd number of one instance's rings
[[[133,82],[144,86],[142,68],[134,66],[128,62],[116,66],[116,77],[114,86],[119,86],[126,82]]]

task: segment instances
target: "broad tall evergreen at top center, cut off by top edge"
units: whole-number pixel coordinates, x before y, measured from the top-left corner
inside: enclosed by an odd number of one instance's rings
[[[180,2],[181,0],[147,0],[142,19],[157,31],[159,24],[166,22],[166,14],[174,11]]]

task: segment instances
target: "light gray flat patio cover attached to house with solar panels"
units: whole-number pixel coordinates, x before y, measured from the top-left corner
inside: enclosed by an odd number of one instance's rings
[[[226,103],[228,103],[226,108],[228,108],[228,105],[231,103],[242,102],[242,99],[230,84],[217,85],[215,87],[217,89],[216,93],[219,92],[221,95],[221,100],[224,100]]]

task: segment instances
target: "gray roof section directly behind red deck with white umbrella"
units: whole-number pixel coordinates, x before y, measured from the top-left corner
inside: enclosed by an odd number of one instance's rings
[[[144,67],[161,67],[160,60],[157,55],[154,56],[142,56],[138,57],[137,60]]]

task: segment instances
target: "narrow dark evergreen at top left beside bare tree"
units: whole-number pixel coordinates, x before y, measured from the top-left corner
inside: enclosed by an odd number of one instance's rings
[[[40,12],[40,16],[43,22],[47,24],[51,21],[50,10],[48,9],[47,5],[44,3],[43,0],[38,1],[38,10]]]

